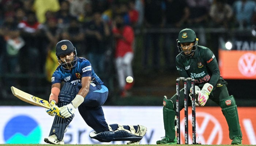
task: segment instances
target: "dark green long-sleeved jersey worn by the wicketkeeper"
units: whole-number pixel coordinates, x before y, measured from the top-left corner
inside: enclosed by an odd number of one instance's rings
[[[215,55],[204,46],[197,46],[193,56],[178,54],[176,68],[180,77],[195,79],[195,83],[199,87],[202,87],[206,82],[215,86],[218,81],[223,81]]]

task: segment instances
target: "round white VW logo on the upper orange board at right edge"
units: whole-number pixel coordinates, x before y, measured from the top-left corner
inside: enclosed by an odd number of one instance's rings
[[[256,55],[246,53],[238,60],[238,69],[240,73],[246,77],[251,77],[256,74]]]

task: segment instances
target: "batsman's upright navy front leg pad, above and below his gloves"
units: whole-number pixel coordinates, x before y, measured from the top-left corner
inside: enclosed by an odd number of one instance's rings
[[[65,82],[59,94],[58,107],[63,107],[64,105],[71,103],[71,101],[75,98],[75,96],[76,96],[75,85],[73,85],[70,82]],[[64,137],[65,129],[68,127],[69,123],[72,121],[74,116],[75,115],[73,114],[68,118],[61,118],[56,115],[54,117],[49,136],[55,134],[57,139],[59,141],[62,141]]]

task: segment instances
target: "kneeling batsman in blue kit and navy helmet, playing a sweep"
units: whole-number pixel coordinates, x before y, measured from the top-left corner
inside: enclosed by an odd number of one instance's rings
[[[127,144],[139,144],[147,132],[145,126],[106,122],[102,105],[108,98],[108,88],[94,72],[90,61],[77,57],[76,48],[68,40],[57,43],[56,56],[60,65],[52,75],[50,109],[46,109],[54,120],[49,137],[44,141],[64,144],[64,133],[78,109],[84,124],[94,130],[89,134],[90,138],[100,142],[129,141]]]

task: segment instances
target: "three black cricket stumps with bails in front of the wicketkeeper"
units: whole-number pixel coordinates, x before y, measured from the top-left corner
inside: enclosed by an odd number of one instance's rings
[[[185,144],[188,144],[188,95],[187,85],[191,81],[192,94],[192,143],[196,143],[196,104],[195,104],[195,79],[178,77],[176,79],[176,117],[177,117],[177,144],[180,142],[180,81],[184,81],[184,112],[185,112]]]

